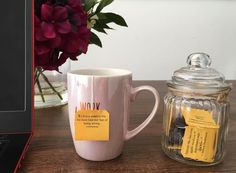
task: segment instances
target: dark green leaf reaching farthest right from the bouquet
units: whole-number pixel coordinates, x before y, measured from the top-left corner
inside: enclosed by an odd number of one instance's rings
[[[125,19],[122,16],[118,15],[118,14],[115,14],[115,13],[100,13],[100,15],[103,18],[104,17],[106,18],[106,19],[104,19],[106,23],[114,22],[117,25],[128,27],[127,23],[125,22]],[[99,17],[99,15],[98,15],[98,17]]]

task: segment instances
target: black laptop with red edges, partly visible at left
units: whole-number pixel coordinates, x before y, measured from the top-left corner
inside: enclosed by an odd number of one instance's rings
[[[14,173],[33,131],[33,0],[0,4],[0,173]]]

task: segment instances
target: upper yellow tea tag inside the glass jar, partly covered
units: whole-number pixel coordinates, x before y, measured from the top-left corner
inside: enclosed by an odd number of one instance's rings
[[[183,107],[182,114],[187,125],[207,128],[219,128],[219,125],[217,125],[213,119],[212,112],[202,109]]]

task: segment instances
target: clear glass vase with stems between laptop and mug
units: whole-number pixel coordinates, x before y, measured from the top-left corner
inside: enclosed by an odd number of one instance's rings
[[[34,87],[35,109],[55,107],[67,104],[67,72],[70,70],[70,68],[70,61],[68,60],[61,67],[59,67],[60,73],[54,70],[44,71],[43,75],[39,75],[39,84],[35,82]]]

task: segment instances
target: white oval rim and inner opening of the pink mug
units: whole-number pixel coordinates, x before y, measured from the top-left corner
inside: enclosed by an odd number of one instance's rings
[[[79,70],[72,70],[67,74],[86,77],[122,77],[130,76],[132,75],[132,72],[119,68],[83,68]]]

